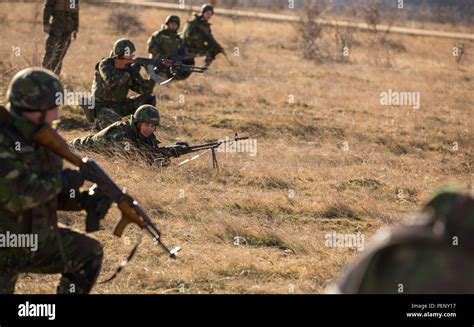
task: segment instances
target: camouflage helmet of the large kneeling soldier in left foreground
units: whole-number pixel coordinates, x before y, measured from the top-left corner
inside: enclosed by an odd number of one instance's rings
[[[31,67],[19,71],[7,90],[8,107],[22,111],[46,111],[62,104],[64,87],[53,72]]]

